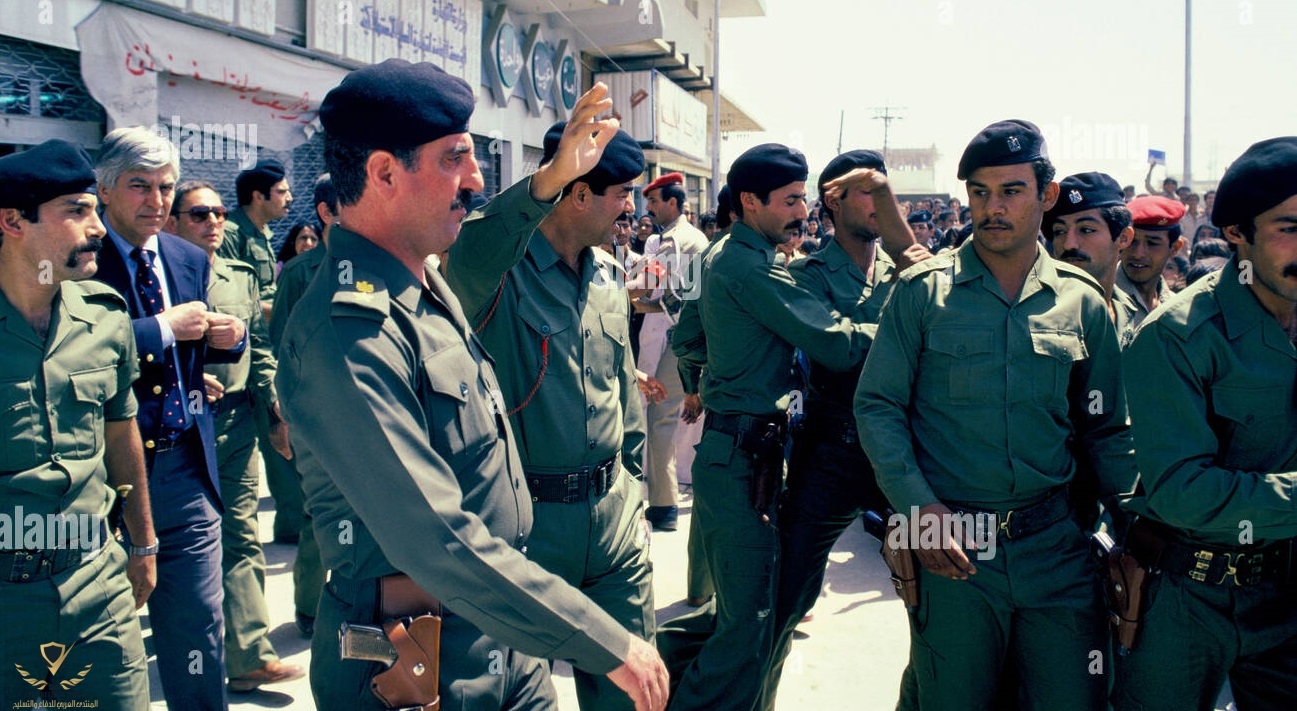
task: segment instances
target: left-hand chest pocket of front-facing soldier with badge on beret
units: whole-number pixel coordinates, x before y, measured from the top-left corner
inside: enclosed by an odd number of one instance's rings
[[[977,328],[934,328],[927,333],[922,370],[931,374],[938,402],[995,402],[1001,387],[994,372],[994,335]]]

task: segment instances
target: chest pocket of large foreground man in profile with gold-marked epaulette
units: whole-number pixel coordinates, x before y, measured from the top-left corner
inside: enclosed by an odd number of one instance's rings
[[[428,379],[429,442],[447,461],[476,452],[494,439],[493,402],[479,378],[479,366],[466,348],[441,349],[423,361]]]

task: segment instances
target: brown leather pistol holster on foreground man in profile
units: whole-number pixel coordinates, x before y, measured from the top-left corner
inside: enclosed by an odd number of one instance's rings
[[[370,690],[388,708],[438,711],[441,618],[420,615],[388,620],[383,623],[383,632],[396,649],[397,659],[387,671],[375,675]]]

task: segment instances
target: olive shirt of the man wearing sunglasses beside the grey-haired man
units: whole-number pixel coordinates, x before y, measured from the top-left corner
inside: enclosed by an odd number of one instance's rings
[[[249,391],[265,407],[275,404],[275,356],[266,333],[257,296],[257,271],[235,259],[217,257],[208,284],[208,304],[218,314],[227,314],[248,327],[248,348],[233,363],[208,363],[204,371],[217,376],[226,394]]]

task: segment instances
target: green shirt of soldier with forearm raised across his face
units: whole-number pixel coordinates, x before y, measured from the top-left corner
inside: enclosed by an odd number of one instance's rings
[[[878,317],[882,313],[887,295],[891,293],[891,279],[896,263],[875,243],[873,280],[865,278],[856,262],[847,254],[838,240],[829,247],[789,265],[789,274],[802,288],[811,292],[834,314],[844,315],[852,323],[861,324],[861,331],[873,341],[878,331]],[[866,345],[868,348],[868,345]],[[807,411],[827,416],[855,419],[852,415],[852,394],[860,381],[860,370],[834,370],[818,361],[811,361],[809,392]]]

